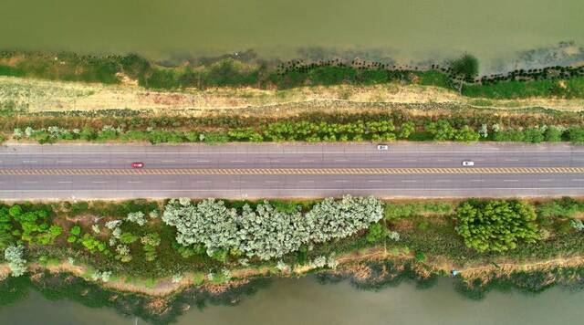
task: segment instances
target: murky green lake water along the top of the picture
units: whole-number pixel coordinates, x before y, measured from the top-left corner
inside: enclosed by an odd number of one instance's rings
[[[517,51],[584,45],[582,0],[3,0],[2,12],[0,47],[153,58],[248,48],[297,58],[298,48],[323,47],[408,61],[469,51],[485,69]]]

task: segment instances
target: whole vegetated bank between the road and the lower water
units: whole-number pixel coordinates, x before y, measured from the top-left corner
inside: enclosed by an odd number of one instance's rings
[[[580,289],[582,218],[584,201],[572,198],[2,204],[0,303],[34,288],[167,322],[306,274],[367,289],[454,276],[472,299]]]

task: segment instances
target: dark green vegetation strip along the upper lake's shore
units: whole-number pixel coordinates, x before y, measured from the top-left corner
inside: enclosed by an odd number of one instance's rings
[[[478,77],[478,60],[464,54],[445,63],[396,66],[360,59],[344,61],[256,59],[253,52],[163,67],[136,54],[89,56],[70,52],[0,52],[0,76],[137,84],[147,89],[222,87],[292,89],[318,85],[402,84],[456,89],[486,99],[584,98],[584,66],[517,69]]]

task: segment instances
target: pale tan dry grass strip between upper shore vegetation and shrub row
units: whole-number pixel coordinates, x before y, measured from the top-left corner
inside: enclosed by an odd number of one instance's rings
[[[524,109],[544,107],[554,110],[582,110],[584,100],[480,100],[467,99],[454,91],[429,86],[396,83],[375,86],[318,86],[297,89],[185,89],[154,91],[138,87],[124,78],[121,85],[48,81],[0,77],[0,102],[11,100],[30,112],[47,110],[151,110],[154,113],[200,115],[229,111],[245,114],[268,109],[282,113],[274,106],[307,104],[317,110],[348,110],[371,103],[457,103],[491,109]],[[346,105],[343,105],[346,103]],[[316,104],[316,105],[315,105]],[[346,107],[343,107],[346,106]],[[308,110],[304,108],[300,110]],[[286,110],[297,113],[297,110]]]

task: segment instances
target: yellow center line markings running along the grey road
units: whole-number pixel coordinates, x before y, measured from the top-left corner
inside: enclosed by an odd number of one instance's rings
[[[584,173],[584,167],[511,168],[208,168],[208,169],[0,169],[0,175],[262,175],[408,173]]]

